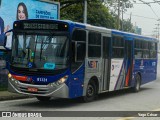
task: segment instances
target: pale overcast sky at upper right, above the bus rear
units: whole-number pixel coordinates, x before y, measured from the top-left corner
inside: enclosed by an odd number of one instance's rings
[[[132,1],[132,0],[130,0]],[[154,2],[159,0],[135,0],[136,3]],[[149,7],[146,4],[133,4],[133,8],[128,8],[124,13],[124,19],[130,18],[133,25],[142,28],[142,35],[156,36],[158,32],[158,24],[160,24],[160,1],[158,3],[150,3]],[[139,16],[139,17],[138,17]],[[159,21],[158,21],[159,20]],[[159,26],[160,28],[160,26]]]

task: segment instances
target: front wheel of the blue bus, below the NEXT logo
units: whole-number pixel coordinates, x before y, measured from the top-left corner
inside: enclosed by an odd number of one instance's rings
[[[87,85],[86,96],[83,97],[84,102],[91,102],[97,98],[97,86],[94,81],[90,81]]]

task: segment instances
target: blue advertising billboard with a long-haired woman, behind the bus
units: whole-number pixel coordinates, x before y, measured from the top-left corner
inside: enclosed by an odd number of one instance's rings
[[[45,1],[0,0],[0,36],[2,37],[1,34],[12,29],[13,22],[16,20],[59,19],[59,3]],[[0,46],[3,43],[1,37]],[[7,35],[6,47],[8,48],[11,47],[11,37],[12,35]]]

